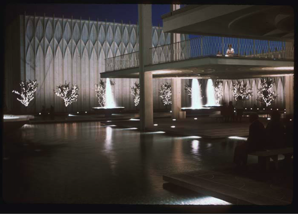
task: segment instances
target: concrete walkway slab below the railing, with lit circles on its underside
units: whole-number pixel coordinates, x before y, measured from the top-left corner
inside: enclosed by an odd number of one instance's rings
[[[294,74],[293,60],[248,57],[197,57],[145,66],[153,78],[249,79]],[[100,73],[101,78],[138,78],[138,67]]]

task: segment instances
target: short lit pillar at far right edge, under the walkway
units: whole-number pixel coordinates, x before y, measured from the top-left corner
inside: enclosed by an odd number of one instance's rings
[[[286,102],[286,115],[293,119],[294,114],[294,76],[285,76],[284,93]]]

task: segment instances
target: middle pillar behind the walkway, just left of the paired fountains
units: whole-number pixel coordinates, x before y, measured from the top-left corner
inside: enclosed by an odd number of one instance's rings
[[[180,5],[170,5],[170,11],[175,11],[180,9]],[[180,42],[181,37],[180,33],[171,33],[171,44],[175,44],[172,46],[174,48],[173,50],[173,56],[172,56],[172,61],[173,60],[178,60],[180,58]],[[171,79],[171,92],[172,92],[172,118],[173,119],[178,119],[178,118],[183,118],[183,115],[180,114],[181,112],[181,79]]]

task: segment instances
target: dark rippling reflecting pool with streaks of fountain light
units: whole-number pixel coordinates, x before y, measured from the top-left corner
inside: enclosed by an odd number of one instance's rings
[[[233,165],[235,142],[222,141],[100,122],[24,125],[4,138],[3,197],[25,203],[229,204],[163,188],[165,174]]]

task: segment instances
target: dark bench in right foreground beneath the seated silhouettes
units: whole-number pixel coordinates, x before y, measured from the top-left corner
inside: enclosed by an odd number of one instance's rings
[[[293,147],[287,147],[275,150],[265,150],[265,151],[254,151],[248,153],[249,155],[254,155],[258,157],[258,164],[260,167],[269,169],[270,158],[274,161],[276,169],[278,169],[278,155],[284,155],[285,161],[290,161],[293,155]]]

